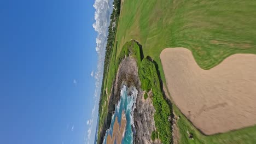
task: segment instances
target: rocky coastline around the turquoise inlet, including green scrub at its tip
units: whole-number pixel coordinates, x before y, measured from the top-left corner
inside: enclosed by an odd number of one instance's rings
[[[119,65],[115,65],[119,67],[117,67],[117,75],[113,81],[112,91],[108,101],[107,119],[100,131],[102,137],[99,137],[98,142],[103,142],[103,135],[106,134],[106,130],[110,127],[115,105],[120,100],[120,89],[126,85],[127,87],[136,87],[138,91],[137,99],[133,106],[133,113],[131,113],[133,115],[133,143],[160,143],[159,139],[152,140],[152,133],[156,131],[152,94],[150,98],[144,99],[144,93],[146,92],[141,88],[141,81],[138,75],[139,65],[143,58],[141,47],[136,40],[131,40],[124,45],[123,51],[126,53],[119,55]],[[130,95],[129,92],[128,95]]]

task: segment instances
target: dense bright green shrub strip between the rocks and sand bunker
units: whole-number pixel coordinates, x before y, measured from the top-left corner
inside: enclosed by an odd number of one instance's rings
[[[155,133],[158,133],[162,143],[171,143],[172,128],[171,122],[168,121],[168,117],[172,114],[171,107],[168,105],[162,94],[159,77],[154,63],[147,58],[143,58],[138,73],[143,86],[142,89],[144,91],[152,89],[153,93],[152,100],[155,107],[154,121],[156,131],[153,133],[152,137],[155,139]]]

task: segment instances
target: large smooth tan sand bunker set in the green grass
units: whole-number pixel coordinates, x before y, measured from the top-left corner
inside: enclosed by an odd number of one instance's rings
[[[207,135],[256,124],[256,55],[235,54],[210,70],[188,49],[160,54],[174,103]]]

